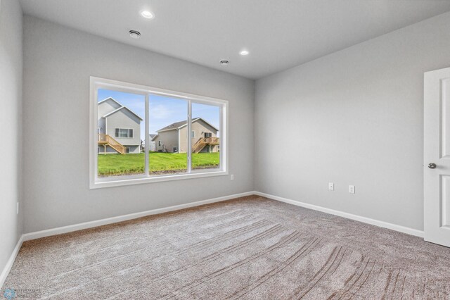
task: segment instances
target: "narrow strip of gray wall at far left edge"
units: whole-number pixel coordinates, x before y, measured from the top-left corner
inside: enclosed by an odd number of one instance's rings
[[[22,141],[22,9],[17,0],[0,1],[0,272],[22,233],[20,201]]]

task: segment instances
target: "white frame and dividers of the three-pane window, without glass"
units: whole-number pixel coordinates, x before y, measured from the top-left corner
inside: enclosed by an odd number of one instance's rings
[[[212,177],[212,176],[224,176],[229,175],[229,101],[223,99],[216,99],[207,96],[198,96],[193,94],[187,94],[184,92],[175,92],[167,89],[160,89],[157,87],[148,87],[145,85],[135,85],[128,82],[120,82],[117,80],[108,80],[100,77],[90,77],[91,92],[90,92],[90,122],[89,122],[89,187],[91,189],[98,189],[101,187],[117,187],[122,185],[136,185],[142,183],[150,182],[164,182],[170,180],[186,180],[201,177]],[[143,174],[139,175],[126,175],[126,176],[112,176],[112,177],[98,177],[98,144],[97,144],[97,132],[98,127],[98,89],[111,89],[118,92],[129,92],[133,94],[141,94],[146,96],[146,132],[145,136],[148,137],[148,102],[150,94],[162,95],[162,96],[172,96],[179,99],[185,99],[188,101],[188,132],[191,132],[192,128],[192,115],[191,108],[192,104],[207,104],[219,106],[220,108],[220,145],[219,152],[220,165],[217,169],[191,169],[191,155],[190,151],[192,148],[192,140],[188,139],[188,170],[187,173],[174,174],[174,175],[150,175],[148,170],[148,159],[149,156],[146,155],[145,161],[145,171]],[[146,149],[149,149],[150,141],[146,139]]]

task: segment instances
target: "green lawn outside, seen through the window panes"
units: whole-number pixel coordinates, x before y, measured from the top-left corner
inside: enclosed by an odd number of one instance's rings
[[[145,156],[141,154],[99,154],[98,176],[129,175],[143,173]],[[150,152],[150,173],[174,173],[187,168],[185,153]],[[218,168],[219,152],[192,154],[192,168]]]

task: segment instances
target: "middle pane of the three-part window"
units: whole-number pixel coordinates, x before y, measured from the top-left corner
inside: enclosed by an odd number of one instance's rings
[[[188,150],[188,101],[150,94],[150,175],[186,173]]]

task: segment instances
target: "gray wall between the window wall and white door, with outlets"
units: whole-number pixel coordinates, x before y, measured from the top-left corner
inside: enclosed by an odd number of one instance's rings
[[[449,28],[446,13],[257,80],[255,188],[423,230],[423,73],[450,66]]]

